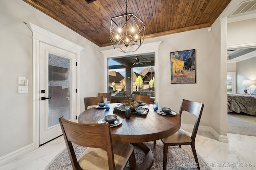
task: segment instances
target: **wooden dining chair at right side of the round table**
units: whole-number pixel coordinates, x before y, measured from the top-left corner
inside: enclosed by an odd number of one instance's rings
[[[189,136],[182,128],[180,128],[173,135],[166,137],[164,139],[161,139],[161,141],[164,143],[164,170],[166,170],[168,146],[176,146],[176,145],[179,145],[180,148],[181,148],[181,145],[190,145],[192,148],[192,152],[194,154],[197,168],[200,169],[198,158],[196,155],[195,139],[196,139],[196,133],[198,130],[203,108],[204,108],[204,104],[202,103],[192,102],[185,99],[182,100],[180,105],[180,111],[179,111],[180,117],[181,117],[182,111],[187,111],[188,113],[196,115],[195,125],[194,125],[191,136]]]

